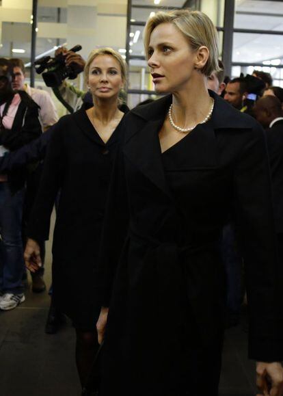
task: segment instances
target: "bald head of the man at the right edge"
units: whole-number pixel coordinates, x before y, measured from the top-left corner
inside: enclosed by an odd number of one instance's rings
[[[283,116],[280,100],[276,96],[263,96],[254,105],[254,115],[262,127],[269,127],[275,118]]]

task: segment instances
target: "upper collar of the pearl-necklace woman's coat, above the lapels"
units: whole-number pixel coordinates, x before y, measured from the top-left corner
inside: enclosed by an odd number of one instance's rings
[[[208,90],[208,92],[215,100],[213,114],[211,116],[213,129],[250,129],[254,127],[254,119],[252,117],[234,109],[234,107],[215,94],[215,92],[211,90]],[[148,105],[135,107],[131,110],[131,114],[135,114],[135,116],[148,121],[164,119],[171,103],[172,95],[163,96],[157,101],[148,103]]]

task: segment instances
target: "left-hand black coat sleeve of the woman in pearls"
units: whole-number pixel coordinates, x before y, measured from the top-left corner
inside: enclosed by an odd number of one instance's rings
[[[128,226],[129,203],[121,145],[113,164],[98,259],[101,306],[109,306],[113,280],[126,241]]]

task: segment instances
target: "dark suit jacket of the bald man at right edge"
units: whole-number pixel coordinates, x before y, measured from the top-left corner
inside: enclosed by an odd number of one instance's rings
[[[278,120],[266,131],[271,168],[275,225],[283,233],[283,120]]]

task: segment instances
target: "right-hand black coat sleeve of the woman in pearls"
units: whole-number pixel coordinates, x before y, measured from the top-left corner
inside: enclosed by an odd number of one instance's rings
[[[255,124],[235,170],[235,222],[239,228],[249,308],[249,356],[283,359],[282,304],[271,181],[264,131]]]

